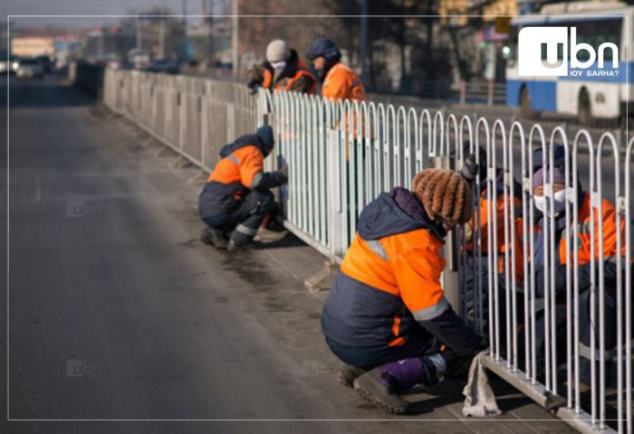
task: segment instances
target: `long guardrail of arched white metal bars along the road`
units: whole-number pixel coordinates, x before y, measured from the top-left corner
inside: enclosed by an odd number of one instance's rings
[[[103,99],[206,171],[216,164],[221,146],[270,123],[276,149],[266,165],[274,169],[286,161],[290,169],[289,184],[280,193],[284,224],[337,262],[352,240],[360,211],[380,192],[409,186],[423,168],[459,168],[466,157],[464,144],[470,150],[484,147],[487,176],[478,178],[474,189],[474,203],[485,203],[484,208],[476,207],[473,222],[448,237],[445,249],[448,270],[458,275],[456,309],[479,333],[488,334],[487,366],[504,380],[544,406],[556,407],[562,419],[582,431],[632,433],[634,139],[623,153],[610,133],[597,140],[581,129],[566,137],[555,127],[547,135],[537,124],[524,129],[499,119],[474,122],[426,109],[335,103],[287,92],[261,90],[252,96],[240,84],[139,71],[106,71]],[[554,219],[543,224],[541,272],[531,260],[541,231],[534,212],[532,160],[535,149],[555,143],[566,150],[566,174],[578,176],[567,177],[563,252]],[[553,164],[552,146],[548,149],[543,153],[546,167]],[[591,197],[590,220],[580,220],[581,189]],[[544,191],[547,210],[552,209],[549,178]],[[602,200],[614,204],[613,212],[600,212]],[[482,212],[496,223],[479,229]],[[610,224],[616,229],[604,233]],[[590,247],[581,245],[581,236],[590,238]],[[616,243],[615,256],[607,256],[609,243]],[[587,251],[580,260],[582,249]],[[555,262],[562,255],[568,258],[565,283],[557,278]],[[587,290],[579,286],[584,261],[591,264]],[[618,270],[613,282],[606,281],[609,262]],[[543,294],[535,290],[542,283]]]

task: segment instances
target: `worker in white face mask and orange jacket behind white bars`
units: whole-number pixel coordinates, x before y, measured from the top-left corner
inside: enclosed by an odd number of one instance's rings
[[[533,242],[534,255],[530,259],[535,268],[534,288],[535,297],[551,297],[552,292],[555,294],[555,325],[553,329],[557,333],[557,360],[559,363],[566,363],[566,340],[569,338],[566,327],[566,319],[568,316],[566,307],[566,289],[567,279],[570,272],[570,278],[577,278],[579,290],[579,326],[580,341],[578,343],[580,349],[580,379],[586,384],[591,383],[591,335],[595,336],[595,357],[599,358],[599,342],[603,340],[605,343],[606,354],[606,384],[615,387],[617,380],[617,360],[616,344],[617,344],[617,291],[624,290],[624,283],[621,288],[618,287],[618,277],[624,273],[626,267],[631,264],[625,263],[625,219],[621,216],[620,222],[616,220],[616,210],[614,205],[602,199],[598,209],[593,209],[591,203],[591,193],[584,192],[581,189],[581,183],[578,183],[577,206],[578,206],[578,256],[579,266],[572,269],[574,259],[574,229],[566,226],[566,197],[572,195],[572,180],[565,178],[565,148],[556,145],[552,149],[553,166],[548,170],[543,167],[543,153],[546,152],[546,160],[550,158],[548,148],[538,149],[533,153],[533,194],[534,204],[537,209],[537,226],[535,228],[535,240]],[[572,161],[572,158],[570,159]],[[552,171],[552,196],[553,209],[550,207],[550,198],[544,194],[544,184],[550,182]],[[569,171],[570,176],[572,170]],[[548,203],[548,212],[546,212],[546,203]],[[570,209],[568,212],[572,212]],[[592,226],[591,215],[594,213],[594,226]],[[600,222],[600,217],[602,222]],[[551,286],[550,273],[546,273],[545,267],[545,228],[550,231],[551,221],[554,220],[554,233],[552,233],[552,242],[554,247],[554,258],[551,258],[554,269],[554,287]],[[572,222],[572,213],[571,213]],[[600,238],[600,228],[602,228],[602,239]],[[617,249],[617,234],[621,233],[622,248]],[[594,259],[592,259],[592,234],[594,234]],[[570,250],[572,257],[567,256],[567,244],[571,243]],[[600,251],[603,252],[603,270],[604,270],[604,293],[601,295],[599,290],[600,284]],[[622,268],[617,268],[617,258],[621,257]],[[570,269],[569,269],[570,268]],[[526,273],[528,274],[528,273]],[[593,275],[594,274],[594,275]],[[592,284],[594,281],[594,284]],[[623,276],[622,282],[625,282]],[[573,280],[571,280],[571,288],[574,291]],[[624,293],[621,292],[621,297]],[[599,335],[599,326],[592,324],[591,321],[591,303],[594,298],[596,321],[599,321],[599,308],[603,306],[605,312],[605,328],[604,334]],[[572,307],[571,307],[572,309]],[[519,312],[522,314],[522,312]],[[545,335],[543,334],[545,318],[543,311],[536,313],[535,329],[536,329],[536,346],[538,363],[543,363],[545,354]],[[522,338],[523,336],[520,336]],[[524,348],[524,344],[518,344],[520,350]],[[520,354],[519,359],[524,358]],[[565,366],[562,365],[562,368]],[[598,371],[597,371],[598,372]]]

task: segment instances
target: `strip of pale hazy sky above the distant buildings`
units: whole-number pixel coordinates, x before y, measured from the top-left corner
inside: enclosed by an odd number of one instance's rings
[[[226,0],[213,0],[215,10]],[[201,0],[3,0],[0,2],[3,21],[8,15],[125,15],[146,11],[151,6],[167,6],[172,14],[183,14],[183,3],[187,14],[201,14]],[[207,5],[211,0],[207,0]],[[217,12],[216,12],[217,14]],[[84,28],[96,24],[119,23],[120,18],[70,18],[70,17],[12,17],[11,25],[26,27]]]

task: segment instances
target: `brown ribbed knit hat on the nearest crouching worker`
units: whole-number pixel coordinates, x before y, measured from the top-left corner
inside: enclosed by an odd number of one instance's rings
[[[412,191],[430,219],[450,231],[471,218],[471,189],[453,170],[425,169],[412,181]]]

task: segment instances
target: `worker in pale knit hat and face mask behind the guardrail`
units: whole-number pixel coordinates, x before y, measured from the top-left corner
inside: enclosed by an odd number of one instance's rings
[[[252,93],[263,87],[312,94],[315,78],[300,61],[297,52],[289,48],[286,42],[276,39],[266,47],[266,61],[252,69],[248,87]]]

